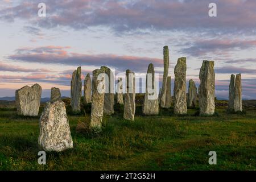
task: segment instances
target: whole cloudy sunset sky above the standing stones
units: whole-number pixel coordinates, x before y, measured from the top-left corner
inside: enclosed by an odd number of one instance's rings
[[[69,96],[79,66],[82,79],[102,65],[143,74],[153,63],[163,74],[168,46],[172,89],[179,57],[197,86],[203,60],[214,60],[217,97],[228,98],[230,75],[241,73],[243,99],[256,99],[255,0],[1,0],[0,30],[0,97],[35,83],[42,97],[52,87]]]

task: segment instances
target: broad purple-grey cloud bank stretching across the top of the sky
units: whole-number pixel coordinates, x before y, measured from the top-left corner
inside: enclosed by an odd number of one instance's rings
[[[254,0],[216,0],[217,17],[208,16],[205,0],[45,0],[47,18],[38,18],[39,0],[20,1],[18,5],[0,10],[0,19],[28,20],[39,27],[57,26],[82,30],[105,26],[115,32],[139,30],[216,30],[219,32],[255,33],[256,2]]]

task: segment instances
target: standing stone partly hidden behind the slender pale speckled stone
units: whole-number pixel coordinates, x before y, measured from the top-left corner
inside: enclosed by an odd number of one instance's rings
[[[105,78],[104,114],[114,114],[114,75],[108,67],[101,67],[108,78]]]

